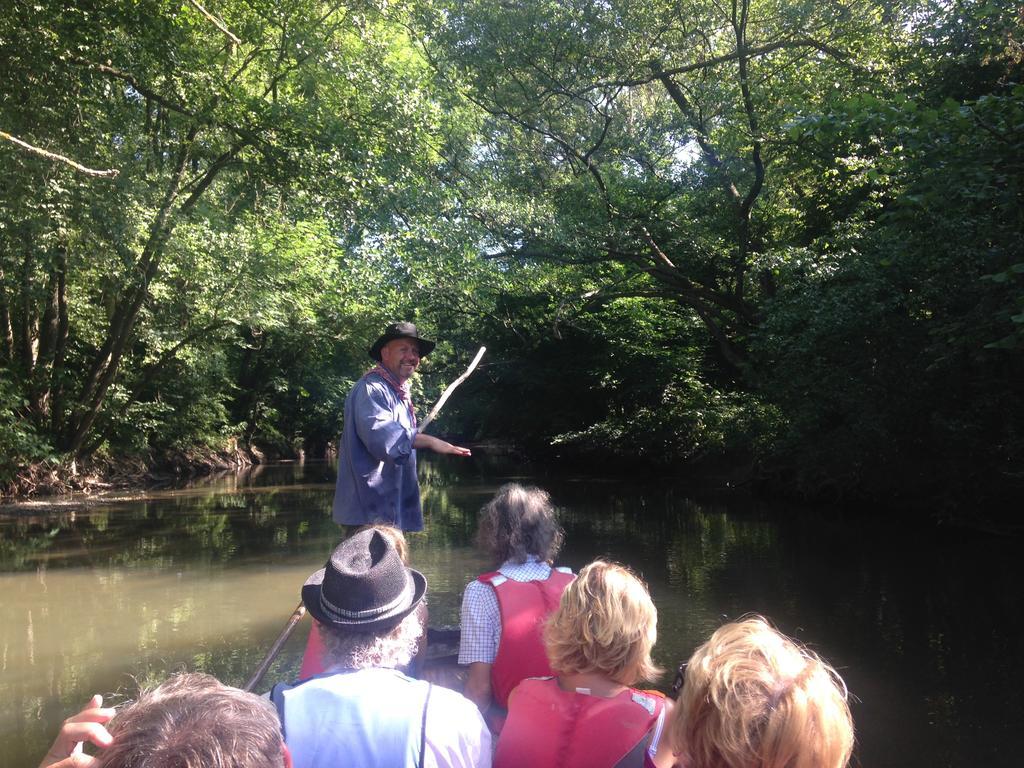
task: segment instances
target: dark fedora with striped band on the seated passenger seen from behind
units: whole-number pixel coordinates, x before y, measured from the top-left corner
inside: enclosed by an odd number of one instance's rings
[[[302,586],[302,602],[321,624],[379,632],[412,613],[426,591],[423,573],[407,568],[394,544],[371,528],[338,545]]]

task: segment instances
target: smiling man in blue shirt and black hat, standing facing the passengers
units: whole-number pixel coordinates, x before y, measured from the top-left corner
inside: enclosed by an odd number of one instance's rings
[[[370,348],[377,366],[355,382],[345,399],[338,451],[334,519],[342,525],[385,522],[423,529],[416,450],[469,456],[417,430],[410,379],[434,348],[412,323],[392,323]]]

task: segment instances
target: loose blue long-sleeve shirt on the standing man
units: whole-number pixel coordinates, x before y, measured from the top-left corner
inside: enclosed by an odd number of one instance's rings
[[[380,375],[371,371],[355,382],[338,450],[336,522],[423,529],[415,438],[409,407]]]

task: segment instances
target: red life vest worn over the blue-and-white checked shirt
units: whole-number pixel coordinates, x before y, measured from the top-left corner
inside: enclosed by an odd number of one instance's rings
[[[495,590],[502,616],[498,655],[490,667],[492,697],[499,707],[508,707],[509,693],[522,680],[552,674],[541,629],[573,579],[555,568],[544,581],[515,582],[500,571],[479,578]]]

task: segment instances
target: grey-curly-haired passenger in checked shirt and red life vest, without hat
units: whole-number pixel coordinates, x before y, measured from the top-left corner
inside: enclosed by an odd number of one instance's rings
[[[463,594],[459,664],[468,665],[465,693],[490,729],[501,731],[512,689],[551,674],[541,628],[572,580],[553,566],[563,534],[547,492],[502,485],[479,514],[477,546],[498,570]]]

